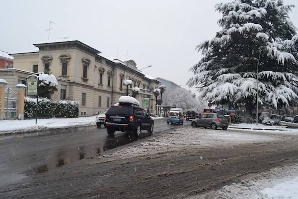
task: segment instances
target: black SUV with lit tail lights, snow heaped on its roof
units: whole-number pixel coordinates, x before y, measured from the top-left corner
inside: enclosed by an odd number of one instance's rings
[[[112,106],[105,115],[104,126],[109,135],[114,135],[115,131],[132,131],[139,136],[141,130],[152,133],[153,125],[154,122],[146,110],[129,103]]]

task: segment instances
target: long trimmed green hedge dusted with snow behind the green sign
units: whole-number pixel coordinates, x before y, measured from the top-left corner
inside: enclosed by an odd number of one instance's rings
[[[25,97],[24,102],[24,117],[35,117],[36,99]],[[38,117],[77,117],[78,108],[77,101],[38,99]]]

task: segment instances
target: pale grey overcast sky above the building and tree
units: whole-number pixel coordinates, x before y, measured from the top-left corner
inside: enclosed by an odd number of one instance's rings
[[[0,0],[0,50],[16,52],[50,39],[71,37],[103,56],[133,59],[143,72],[186,88],[200,59],[200,42],[219,30],[217,2],[229,0]],[[298,5],[297,0],[284,0]],[[291,13],[298,27],[298,8]],[[118,52],[118,53],[117,53]]]

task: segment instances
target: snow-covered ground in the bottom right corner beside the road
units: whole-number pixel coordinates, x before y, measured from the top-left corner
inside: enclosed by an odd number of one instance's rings
[[[297,199],[298,164],[250,175],[241,183],[188,199]]]

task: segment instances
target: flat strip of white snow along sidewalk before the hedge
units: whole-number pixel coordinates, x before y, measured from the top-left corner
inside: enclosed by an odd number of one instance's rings
[[[35,119],[26,120],[2,120],[0,121],[0,134],[28,132],[36,130],[66,128],[75,126],[95,125],[95,117],[78,117],[78,118],[51,118],[38,119],[37,125]]]

